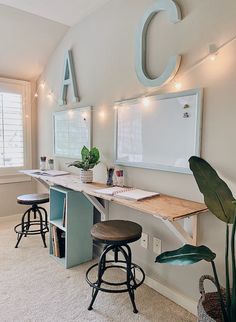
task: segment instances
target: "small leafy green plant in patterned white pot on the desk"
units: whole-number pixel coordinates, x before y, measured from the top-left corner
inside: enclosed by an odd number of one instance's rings
[[[84,146],[81,150],[81,161],[74,161],[69,167],[76,167],[81,169],[80,179],[83,183],[90,183],[93,181],[93,168],[99,163],[100,154],[97,148],[89,150]]]

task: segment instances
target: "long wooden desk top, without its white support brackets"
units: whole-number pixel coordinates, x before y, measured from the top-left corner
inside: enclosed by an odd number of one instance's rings
[[[24,171],[24,173],[43,180],[48,184],[56,184],[65,188],[86,193],[90,196],[112,201],[116,204],[135,209],[139,212],[151,214],[159,219],[176,221],[178,219],[190,217],[207,211],[207,207],[203,203],[176,198],[164,194],[140,201],[126,200],[114,196],[99,194],[94,190],[107,187],[105,184],[96,182],[84,184],[80,182],[79,176],[76,175],[52,177],[45,175],[34,175],[32,172],[30,173],[30,171]]]

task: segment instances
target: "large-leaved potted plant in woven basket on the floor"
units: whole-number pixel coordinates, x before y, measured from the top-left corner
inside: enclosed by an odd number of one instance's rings
[[[214,278],[204,276],[200,279],[202,297],[198,304],[199,322],[202,321],[236,321],[236,260],[235,260],[235,230],[236,204],[227,184],[218,176],[216,171],[205,160],[191,157],[189,160],[195,180],[208,209],[220,220],[226,223],[226,251],[225,251],[225,285],[220,287],[214,259],[216,254],[206,246],[184,245],[183,247],[157,256],[156,262],[172,265],[189,265],[205,260],[212,265]],[[230,225],[232,226],[230,236]],[[231,264],[229,257],[231,255]],[[230,270],[230,265],[232,269]],[[217,288],[216,296],[213,293],[205,294],[203,289],[204,278],[211,279]],[[213,310],[212,310],[213,307]],[[214,313],[219,309],[218,316]]]

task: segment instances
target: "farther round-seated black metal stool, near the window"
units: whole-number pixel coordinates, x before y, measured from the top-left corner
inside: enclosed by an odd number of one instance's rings
[[[17,243],[15,248],[18,247],[21,238],[27,235],[41,235],[44,247],[47,247],[45,241],[45,234],[49,231],[48,229],[48,215],[46,209],[39,207],[39,204],[49,202],[49,195],[44,194],[29,194],[21,195],[17,197],[17,202],[21,205],[31,205],[22,216],[21,223],[14,227],[17,233]],[[42,215],[44,212],[44,218]],[[33,218],[31,217],[33,215]],[[38,216],[38,218],[37,218]],[[32,229],[32,226],[38,226],[37,229]]]

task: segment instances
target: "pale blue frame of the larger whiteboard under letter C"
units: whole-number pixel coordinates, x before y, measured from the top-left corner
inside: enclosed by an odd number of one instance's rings
[[[175,93],[168,93],[168,94],[161,94],[155,96],[146,96],[146,98],[150,100],[165,100],[169,98],[177,98],[177,97],[184,97],[196,95],[197,97],[197,110],[196,110],[196,120],[195,120],[195,144],[194,144],[194,155],[200,156],[201,155],[201,135],[202,135],[202,103],[203,103],[203,89],[191,89],[182,92],[175,92]],[[189,168],[183,167],[175,167],[169,166],[161,163],[146,163],[146,162],[129,162],[129,161],[120,161],[117,158],[117,147],[118,147],[118,110],[119,106],[127,105],[127,104],[137,104],[142,102],[142,98],[135,98],[125,101],[116,102],[115,106],[115,164],[121,166],[128,166],[128,167],[135,167],[135,168],[144,168],[144,169],[152,169],[152,170],[161,170],[161,171],[168,171],[168,172],[177,172],[177,173],[185,173],[185,174],[192,174],[192,171]]]

